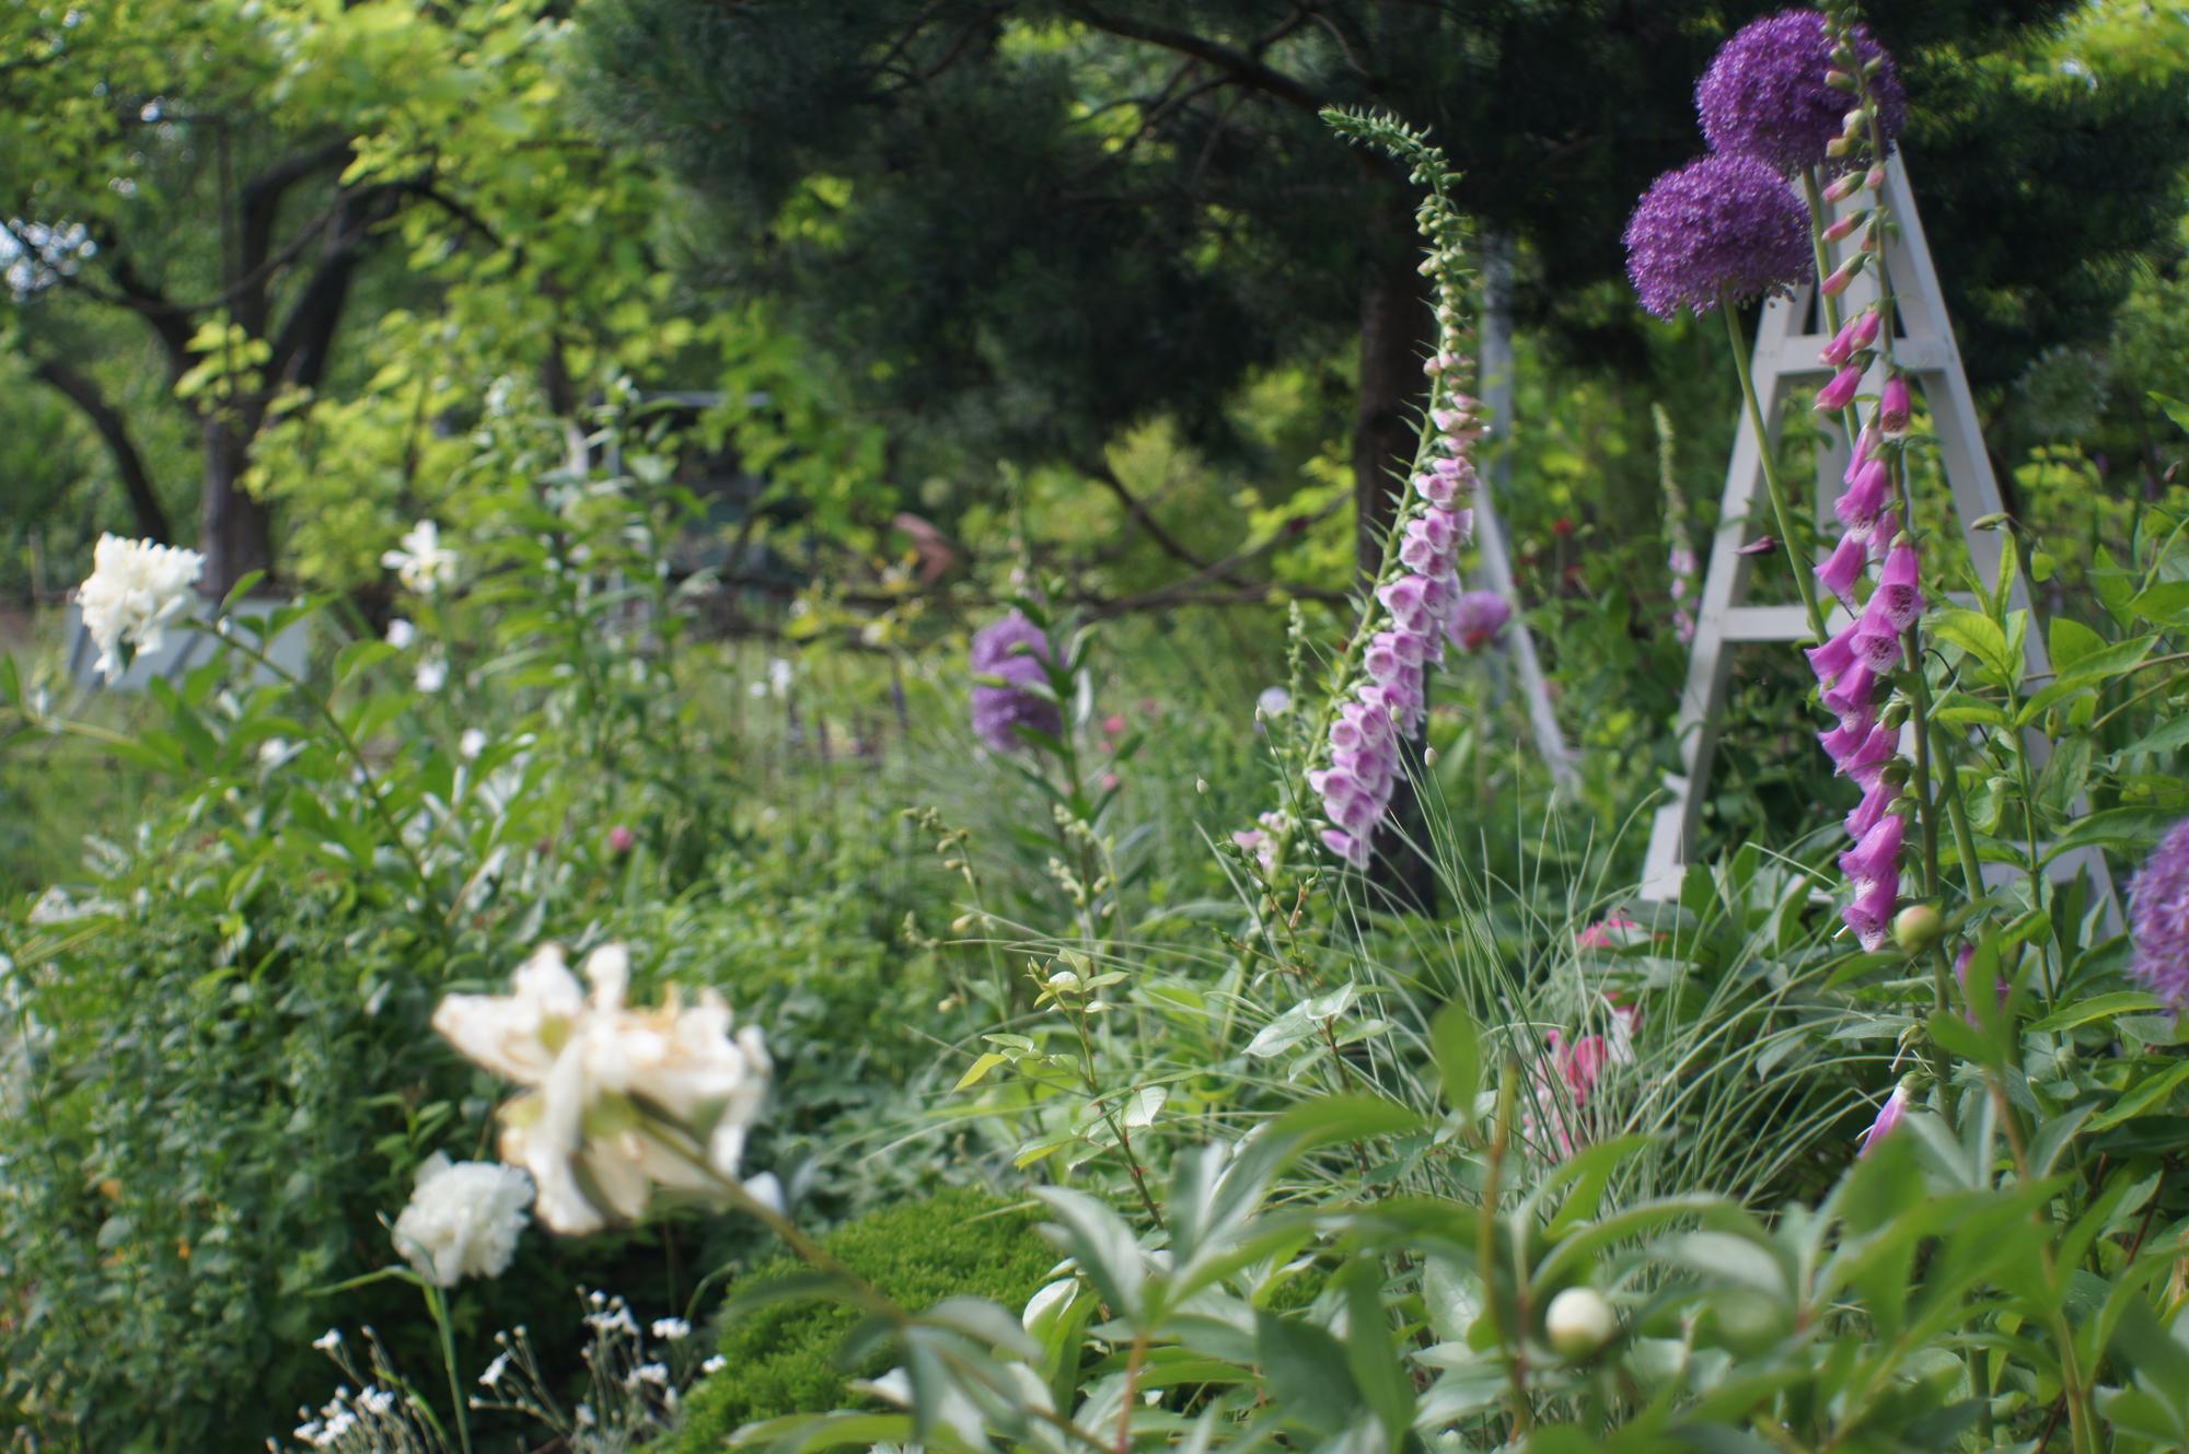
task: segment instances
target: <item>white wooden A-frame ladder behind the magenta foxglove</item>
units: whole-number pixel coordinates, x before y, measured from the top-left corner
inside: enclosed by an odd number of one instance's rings
[[[1898,223],[1898,234],[1885,239],[1885,272],[1893,280],[1898,337],[1893,339],[1896,361],[1922,385],[1937,436],[1939,462],[1946,484],[1953,488],[1953,515],[1968,541],[1968,556],[1983,580],[1999,576],[1999,536],[1988,530],[1970,530],[1970,521],[2001,508],[1999,480],[1992,475],[1992,460],[1983,449],[1983,431],[1977,425],[1977,403],[1968,390],[1968,374],[1961,368],[1961,350],[1953,342],[1953,322],[1937,287],[1937,267],[1931,263],[1931,245],[1924,241],[1922,219],[1915,212],[1915,193],[1909,186],[1907,166],[1896,155],[1885,169],[1885,204]],[[1854,241],[1841,243],[1832,263],[1845,258]],[[1841,298],[1841,315],[1852,318],[1876,298],[1876,274],[1865,269]],[[1817,289],[1808,285],[1793,298],[1775,298],[1764,304],[1762,322],[1756,328],[1753,377],[1756,396],[1769,429],[1767,440],[1756,438],[1749,414],[1740,414],[1740,431],[1734,438],[1734,458],[1725,473],[1725,501],[1718,510],[1718,534],[1710,550],[1710,574],[1703,580],[1703,598],[1696,609],[1694,644],[1688,657],[1688,683],[1679,699],[1679,755],[1681,773],[1666,777],[1668,799],[1657,808],[1651,828],[1648,854],[1642,867],[1642,896],[1653,900],[1679,898],[1679,882],[1690,854],[1694,852],[1696,828],[1703,801],[1710,793],[1710,769],[1718,747],[1718,720],[1725,712],[1725,688],[1731,672],[1734,646],[1747,642],[1793,642],[1808,639],[1808,618],[1802,604],[1760,604],[1749,598],[1751,574],[1758,558],[1740,554],[1749,541],[1769,534],[1771,504],[1764,493],[1762,449],[1777,449],[1786,403],[1797,390],[1812,388],[1832,368],[1819,355],[1830,337],[1821,331],[1821,309]],[[1883,385],[1883,370],[1874,368],[1863,379],[1863,392],[1876,396]],[[1839,497],[1841,475],[1848,466],[1848,440],[1837,427],[1826,429],[1826,442],[1817,449],[1815,501],[1817,517],[1830,519],[1832,501]],[[1799,508],[1791,499],[1788,508]],[[1767,572],[1786,585],[1786,565],[1812,569],[1810,558],[1791,558],[1788,545],[1762,556]],[[2029,609],[2029,593],[2016,576],[2010,604]],[[1830,628],[1839,631],[1848,622],[1843,607],[1832,607]],[[2045,633],[2025,633],[2025,653],[2031,672],[2047,672]],[[2031,751],[2045,753],[2047,745],[2031,738]],[[1988,865],[1985,878],[1999,878]],[[2112,880],[2106,861],[2095,850],[2073,850],[2053,861],[2055,876],[2090,874],[2093,891],[2108,904],[2108,918],[2117,922]]]

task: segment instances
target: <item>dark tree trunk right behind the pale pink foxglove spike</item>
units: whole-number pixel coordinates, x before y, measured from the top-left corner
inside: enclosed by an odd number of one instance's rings
[[[1383,563],[1383,539],[1397,512],[1397,491],[1414,458],[1416,423],[1410,405],[1421,403],[1421,361],[1429,337],[1429,311],[1416,269],[1414,212],[1401,188],[1377,175],[1370,182],[1366,278],[1362,282],[1362,381],[1353,420],[1353,519],[1359,528],[1359,572],[1370,582]],[[1399,786],[1390,819],[1377,832],[1370,882],[1403,909],[1436,907],[1436,869],[1427,823],[1414,780],[1423,762],[1425,731],[1399,753]]]

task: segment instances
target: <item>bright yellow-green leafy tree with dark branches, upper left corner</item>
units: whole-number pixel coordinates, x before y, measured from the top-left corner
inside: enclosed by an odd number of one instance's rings
[[[661,318],[655,184],[569,123],[565,9],[0,13],[0,339],[208,589],[274,567],[282,497],[309,499],[306,554],[390,541],[497,379],[569,416],[690,337]]]

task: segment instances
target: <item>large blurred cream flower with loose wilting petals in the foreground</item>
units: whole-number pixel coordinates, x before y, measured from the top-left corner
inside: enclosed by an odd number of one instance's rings
[[[451,994],[433,1012],[455,1049],[525,1086],[501,1108],[501,1158],[532,1174],[536,1213],[558,1233],[635,1220],[657,1187],[718,1200],[766,1099],[766,1042],[753,1027],[733,1034],[714,990],[696,1005],[672,988],[655,1009],[626,1007],[619,944],[587,955],[584,977],[591,990],[547,944],[510,994]]]

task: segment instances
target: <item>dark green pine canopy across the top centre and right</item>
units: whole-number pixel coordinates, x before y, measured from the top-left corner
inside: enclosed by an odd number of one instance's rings
[[[1421,381],[1412,215],[1318,107],[1434,127],[1473,215],[1526,245],[1521,315],[1550,357],[1637,370],[1626,210],[1703,149],[1694,77],[1760,9],[600,0],[580,24],[604,134],[648,142],[703,204],[707,280],[788,300],[906,438],[1116,486],[1103,445],[1125,425],[1167,416],[1221,453],[1243,379],[1357,337],[1353,475],[1373,523]],[[1874,7],[1922,116],[1909,151],[1983,383],[2101,333],[2178,215],[2189,112],[2171,77],[2095,92],[2027,74],[2071,9]]]

